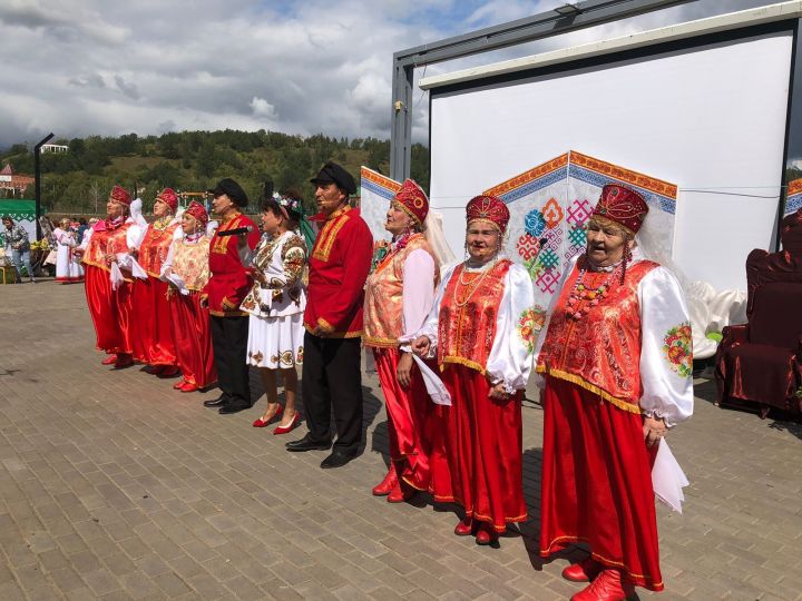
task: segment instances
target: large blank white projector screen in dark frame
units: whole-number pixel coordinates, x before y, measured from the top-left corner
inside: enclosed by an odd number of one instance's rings
[[[472,196],[578,150],[676,183],[675,263],[744,289],[749,252],[773,250],[791,53],[781,31],[433,89],[431,201],[449,244],[461,255]]]

